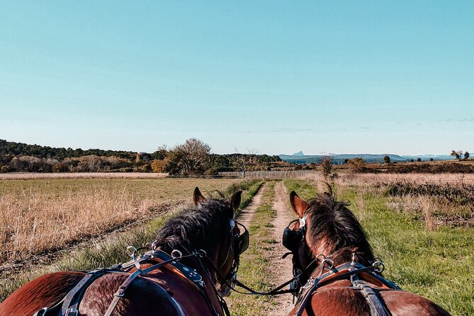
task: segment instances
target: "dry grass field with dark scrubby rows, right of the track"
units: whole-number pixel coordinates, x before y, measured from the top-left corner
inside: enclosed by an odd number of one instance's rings
[[[474,174],[351,174],[340,172],[334,179],[307,174],[318,191],[325,183],[345,190],[357,188],[356,199],[363,194],[387,196],[387,206],[397,213],[423,220],[428,230],[439,226],[474,226]]]

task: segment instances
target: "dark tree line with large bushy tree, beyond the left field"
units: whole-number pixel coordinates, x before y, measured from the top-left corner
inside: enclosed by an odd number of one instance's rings
[[[266,154],[213,154],[205,142],[190,138],[155,152],[56,148],[0,140],[0,171],[28,172],[168,172],[171,175],[217,174],[220,171],[269,170],[281,162]]]

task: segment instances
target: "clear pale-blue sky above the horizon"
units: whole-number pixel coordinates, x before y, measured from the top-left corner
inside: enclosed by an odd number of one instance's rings
[[[474,1],[1,2],[0,139],[448,154],[473,125]]]

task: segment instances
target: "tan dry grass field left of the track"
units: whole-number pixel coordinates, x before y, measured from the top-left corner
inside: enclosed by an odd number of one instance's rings
[[[36,179],[0,181],[0,266],[62,249],[237,179]]]

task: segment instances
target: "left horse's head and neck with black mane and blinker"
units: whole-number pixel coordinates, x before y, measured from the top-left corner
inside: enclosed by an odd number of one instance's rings
[[[205,198],[196,188],[193,207],[166,222],[157,235],[164,252],[203,250],[203,264],[208,266],[198,270],[209,271],[222,296],[230,294],[239,256],[249,245],[249,232],[235,220],[241,196],[242,191],[237,191],[230,198]]]

